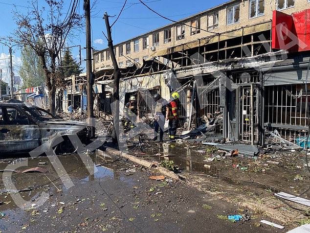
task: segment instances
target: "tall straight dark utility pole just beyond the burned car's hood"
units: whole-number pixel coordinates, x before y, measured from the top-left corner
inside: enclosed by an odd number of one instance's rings
[[[90,34],[90,0],[84,0],[85,23],[86,23],[86,73],[87,73],[87,117],[89,124],[94,126],[94,108],[92,86],[94,77],[91,68],[91,34]],[[90,122],[92,121],[92,122]],[[95,128],[92,127],[92,136],[95,136]]]

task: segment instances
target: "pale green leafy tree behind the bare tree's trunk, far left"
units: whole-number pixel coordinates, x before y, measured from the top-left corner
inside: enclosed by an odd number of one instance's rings
[[[37,87],[45,83],[42,60],[30,46],[22,48],[21,59],[22,88]]]

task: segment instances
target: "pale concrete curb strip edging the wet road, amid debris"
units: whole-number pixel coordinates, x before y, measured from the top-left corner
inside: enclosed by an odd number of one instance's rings
[[[137,158],[133,155],[129,155],[129,154],[124,153],[124,152],[119,151],[119,150],[109,149],[106,152],[111,153],[113,155],[122,156],[126,159],[129,159],[133,163],[138,163],[138,164],[143,165],[143,166],[148,167],[148,168],[154,167],[154,163],[151,163],[149,161]],[[179,180],[178,176],[173,171],[170,171],[164,167],[158,166],[158,167],[154,167],[154,169],[157,170],[158,172],[160,172],[163,176],[171,178],[173,181]]]

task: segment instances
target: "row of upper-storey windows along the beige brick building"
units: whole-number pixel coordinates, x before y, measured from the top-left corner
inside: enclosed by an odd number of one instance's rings
[[[310,2],[310,0],[308,0]],[[277,0],[277,9],[283,10],[295,5],[295,0]],[[259,17],[265,14],[265,0],[249,0],[249,18]],[[227,8],[226,14],[226,24],[234,24],[240,22],[240,4],[233,5]],[[200,18],[191,21],[191,35],[196,35],[200,33]],[[214,12],[207,15],[207,30],[213,30],[219,27],[219,12]],[[159,32],[153,34],[152,46],[159,46]],[[176,40],[181,40],[185,38],[185,25],[176,26]],[[167,44],[171,42],[171,28],[164,30],[164,40],[163,43]],[[149,48],[149,36],[142,38],[142,49]],[[133,41],[133,52],[138,52],[139,39]],[[131,42],[125,44],[126,55],[131,54]],[[114,53],[116,56],[116,50],[114,48]],[[101,61],[104,61],[104,52],[101,52]],[[123,45],[118,47],[118,56],[124,55]],[[99,54],[95,55],[95,62],[99,61]],[[110,52],[106,51],[106,60],[110,60]]]

